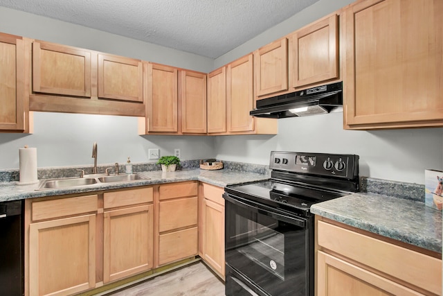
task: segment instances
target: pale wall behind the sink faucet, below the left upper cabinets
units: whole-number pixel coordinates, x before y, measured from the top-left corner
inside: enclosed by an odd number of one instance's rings
[[[150,148],[160,156],[173,155],[180,148],[181,159],[214,157],[213,137],[140,136],[137,118],[90,114],[34,113],[34,134],[0,133],[0,170],[19,168],[19,148],[37,148],[37,166],[92,165],[92,146],[97,142],[98,164],[156,162]]]

